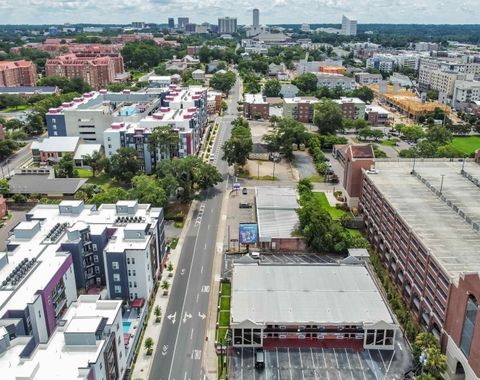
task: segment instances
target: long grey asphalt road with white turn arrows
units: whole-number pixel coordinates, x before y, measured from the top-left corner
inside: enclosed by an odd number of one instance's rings
[[[217,145],[222,145],[230,136],[239,93],[240,82],[237,81],[229,96],[228,111],[218,119],[221,128]],[[219,157],[215,161],[227,179],[226,162]],[[206,337],[213,257],[222,198],[227,187],[228,180],[206,191],[194,210],[164,314],[166,323],[157,340],[150,380],[198,380],[202,377],[201,357]]]

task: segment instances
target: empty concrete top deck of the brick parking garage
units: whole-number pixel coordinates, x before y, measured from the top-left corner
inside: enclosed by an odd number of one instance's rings
[[[377,160],[375,167],[378,174],[368,178],[451,278],[480,273],[480,233],[452,208],[480,224],[480,189],[461,175],[462,162],[416,160],[415,171],[425,183],[410,174],[413,160]],[[465,171],[480,181],[480,165],[466,162]],[[444,200],[434,192],[440,190],[442,175]]]

